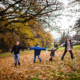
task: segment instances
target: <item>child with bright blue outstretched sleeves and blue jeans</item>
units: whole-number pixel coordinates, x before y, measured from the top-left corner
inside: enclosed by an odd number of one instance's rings
[[[35,63],[35,60],[36,60],[36,56],[38,56],[38,59],[40,60],[40,62],[42,62],[39,55],[40,55],[41,50],[46,50],[46,48],[41,48],[41,47],[39,47],[39,44],[37,44],[37,47],[29,47],[29,49],[34,50],[34,63]]]

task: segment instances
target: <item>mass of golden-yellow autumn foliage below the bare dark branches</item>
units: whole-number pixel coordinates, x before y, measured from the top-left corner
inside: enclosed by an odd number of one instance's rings
[[[36,44],[41,47],[50,47],[53,38],[50,32],[46,32],[44,29],[45,26],[35,19],[25,24],[10,24],[0,33],[0,49],[3,52],[10,51],[16,41],[20,41],[20,44],[26,47]]]

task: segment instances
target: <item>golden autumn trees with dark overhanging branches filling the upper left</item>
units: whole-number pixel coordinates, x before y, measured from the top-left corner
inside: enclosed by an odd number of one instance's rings
[[[72,0],[73,4],[79,0]],[[61,15],[64,4],[58,0],[0,0],[0,49],[10,51],[18,40],[23,46],[50,46],[53,39],[45,32],[47,19]],[[60,11],[60,12],[59,12]],[[44,26],[42,25],[44,24]]]

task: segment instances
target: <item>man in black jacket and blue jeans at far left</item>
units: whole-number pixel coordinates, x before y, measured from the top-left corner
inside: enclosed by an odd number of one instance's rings
[[[16,45],[12,48],[12,52],[14,52],[14,60],[15,60],[15,66],[17,65],[17,60],[18,60],[18,65],[20,65],[20,59],[19,59],[19,51],[20,49],[27,49],[27,47],[22,47],[19,45],[19,41],[16,42]]]

